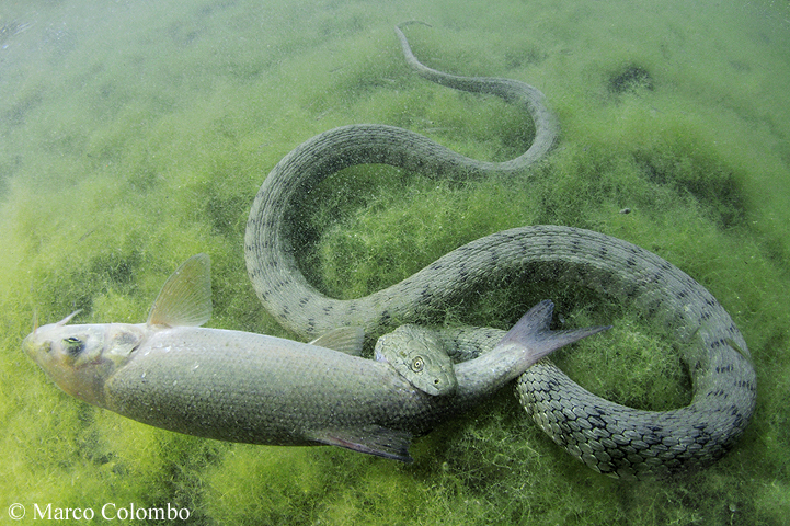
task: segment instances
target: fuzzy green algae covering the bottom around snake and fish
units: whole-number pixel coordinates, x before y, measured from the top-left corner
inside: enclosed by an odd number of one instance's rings
[[[0,12],[0,514],[21,503],[164,506],[192,524],[783,524],[790,516],[790,8],[768,0],[34,0]],[[20,343],[42,323],[141,322],[184,260],[213,260],[209,327],[288,336],[259,305],[242,239],[276,162],[334,126],[383,123],[505,160],[528,117],[411,73],[529,82],[561,125],[503,181],[359,167],[305,202],[298,259],[335,297],[369,294],[488,233],[589,228],[705,285],[757,371],[752,424],[721,461],[621,482],[573,460],[510,389],[415,441],[413,465],[337,448],[226,444],[145,426],[59,391]],[[623,210],[630,213],[621,213]],[[672,334],[572,286],[481,290],[438,324],[611,323],[558,356],[620,403],[688,402]]]

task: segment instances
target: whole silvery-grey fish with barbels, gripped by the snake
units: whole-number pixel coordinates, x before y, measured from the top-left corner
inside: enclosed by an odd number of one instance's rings
[[[360,328],[302,343],[201,327],[211,316],[211,284],[210,260],[197,254],[168,278],[145,323],[70,324],[75,312],[35,327],[22,347],[66,393],[156,427],[236,443],[333,445],[410,462],[413,437],[552,351],[607,329],[550,330],[552,310],[541,301],[490,352],[450,364],[450,388],[433,389],[410,379],[413,369],[404,376],[383,356],[363,357]],[[428,364],[432,353],[446,354],[430,343],[420,352]]]

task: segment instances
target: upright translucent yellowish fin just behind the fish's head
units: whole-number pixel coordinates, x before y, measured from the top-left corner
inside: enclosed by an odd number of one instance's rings
[[[211,262],[193,255],[164,282],[148,313],[149,325],[199,327],[211,317]]]

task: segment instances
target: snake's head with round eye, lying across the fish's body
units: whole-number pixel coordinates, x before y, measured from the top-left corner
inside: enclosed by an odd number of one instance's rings
[[[436,332],[401,325],[376,342],[376,359],[389,363],[403,378],[428,395],[451,395],[458,387],[453,361]]]

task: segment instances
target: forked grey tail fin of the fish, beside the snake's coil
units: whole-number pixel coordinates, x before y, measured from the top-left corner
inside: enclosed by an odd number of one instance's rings
[[[540,358],[548,356],[560,347],[611,328],[611,325],[606,325],[552,331],[549,329],[549,323],[553,310],[554,304],[551,300],[546,299],[539,302],[513,325],[496,346],[523,347],[526,352],[524,353],[524,363],[520,365],[526,370]]]

